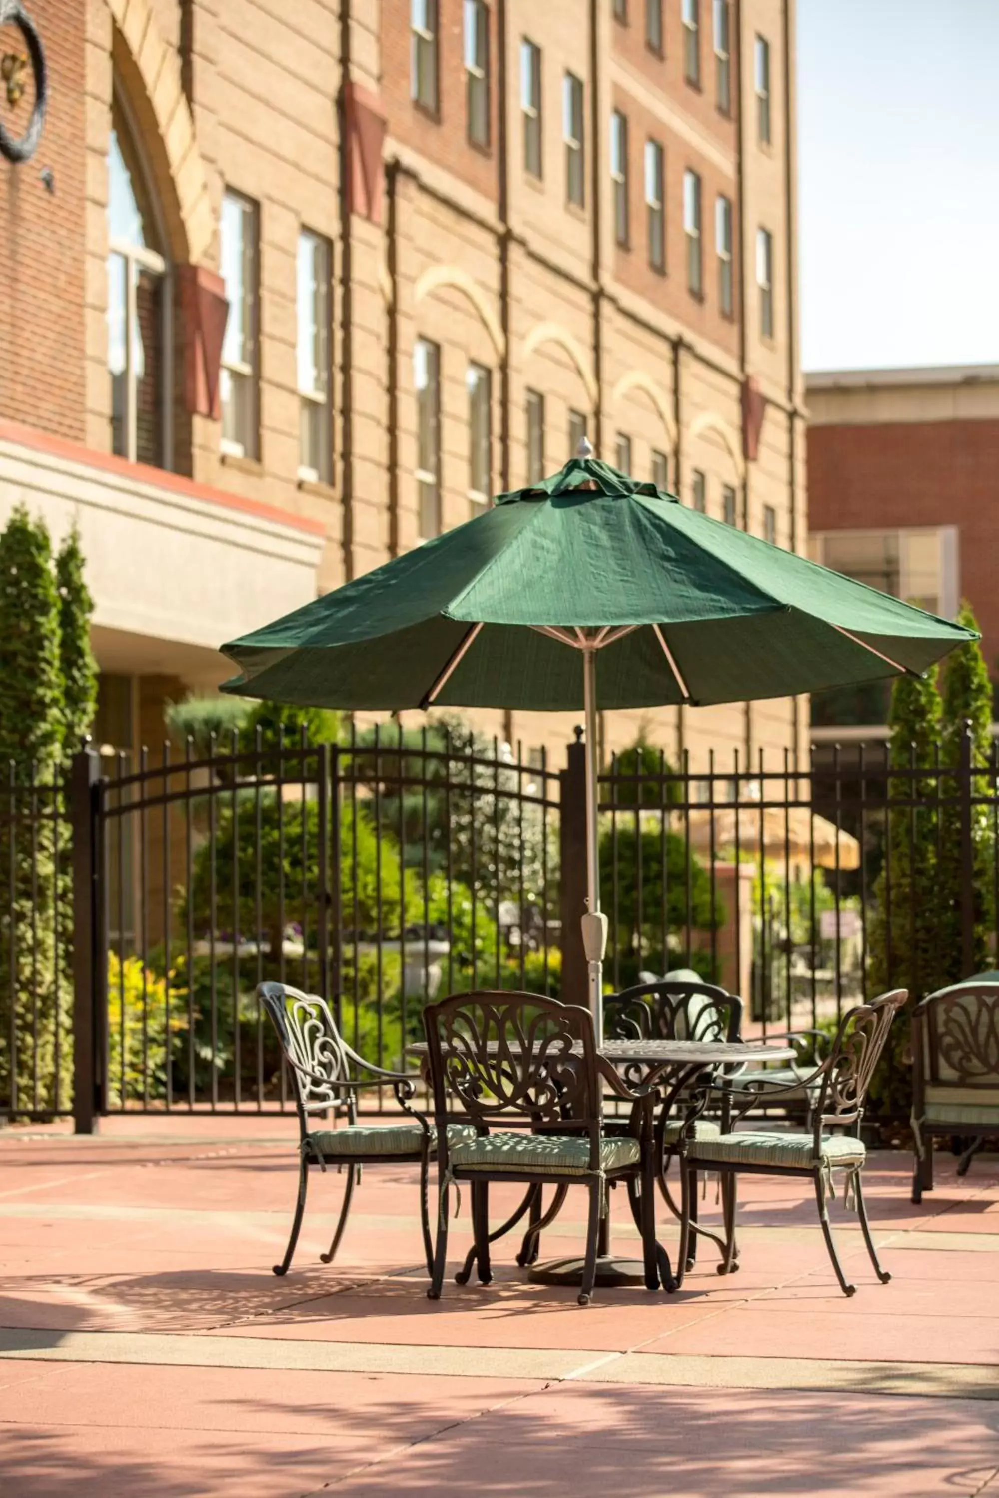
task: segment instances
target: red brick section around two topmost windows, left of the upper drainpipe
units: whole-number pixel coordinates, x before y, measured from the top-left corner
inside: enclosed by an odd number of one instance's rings
[[[488,198],[497,195],[496,174],[496,10],[490,6],[490,145],[467,138],[464,100],[463,0],[439,0],[437,117],[409,96],[410,0],[382,0],[382,100],[389,135],[406,141],[437,166],[454,172]],[[514,60],[515,61],[515,60]],[[517,87],[517,75],[509,87]]]

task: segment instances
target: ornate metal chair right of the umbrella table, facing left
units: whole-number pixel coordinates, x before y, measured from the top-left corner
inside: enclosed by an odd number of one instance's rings
[[[845,1194],[857,1203],[860,1227],[864,1243],[875,1266],[878,1279],[885,1284],[888,1275],[878,1263],[878,1254],[867,1225],[864,1194],[861,1188],[861,1171],[866,1150],[860,1140],[860,1122],[864,1113],[864,1098],[870,1085],[870,1077],[878,1064],[878,1058],[888,1038],[891,1022],[906,1002],[905,989],[884,993],[870,1004],[860,1004],[849,1010],[836,1032],[828,1058],[816,1068],[815,1076],[821,1076],[821,1088],[815,1106],[815,1124],[809,1134],[776,1134],[729,1131],[717,1138],[696,1138],[693,1134],[693,1110],[684,1125],[680,1150],[683,1156],[683,1228],[680,1236],[680,1276],[686,1264],[686,1243],[690,1230],[689,1203],[695,1176],[699,1170],[717,1170],[725,1176],[738,1173],[764,1176],[810,1176],[815,1183],[815,1200],[822,1224],[822,1236],[828,1249],[840,1290],[852,1296],[855,1285],[848,1284],[833,1242],[833,1230],[828,1218],[828,1198],[834,1194],[833,1173],[845,1173]],[[740,1079],[741,1086],[729,1088],[729,1103],[741,1101],[741,1112],[735,1122],[746,1116],[759,1104],[759,1083]],[[767,1089],[771,1095],[779,1089]],[[704,1089],[699,1106],[704,1107],[710,1089]],[[827,1128],[852,1128],[852,1134],[828,1134]],[[731,1273],[737,1267],[735,1245],[735,1194],[723,1194],[725,1206],[725,1261],[722,1273]]]

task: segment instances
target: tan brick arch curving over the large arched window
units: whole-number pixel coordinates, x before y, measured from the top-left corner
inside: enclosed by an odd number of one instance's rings
[[[108,0],[108,7],[115,22],[115,72],[144,127],[171,256],[177,264],[205,264],[216,225],[180,58],[160,36],[150,0]]]

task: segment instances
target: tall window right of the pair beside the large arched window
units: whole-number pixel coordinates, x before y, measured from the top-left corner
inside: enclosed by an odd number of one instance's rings
[[[330,439],[330,240],[303,229],[298,235],[298,475],[328,484]]]

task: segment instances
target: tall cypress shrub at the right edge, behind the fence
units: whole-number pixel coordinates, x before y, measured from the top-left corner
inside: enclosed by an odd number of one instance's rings
[[[968,602],[962,604],[957,623],[978,629]],[[989,953],[989,933],[993,930],[993,836],[992,810],[974,804],[974,797],[990,795],[989,764],[992,758],[992,682],[981,653],[981,641],[969,640],[947,658],[944,667],[944,718],[941,736],[941,758],[948,770],[957,771],[962,764],[962,740],[971,737],[971,848],[972,848],[972,953],[971,969],[965,971],[962,938],[963,879],[962,857],[962,810],[960,797],[966,786],[954,776],[945,776],[942,812],[941,857],[938,869],[938,899],[945,923],[942,942],[942,971],[938,984],[957,983],[984,968],[995,966]]]

